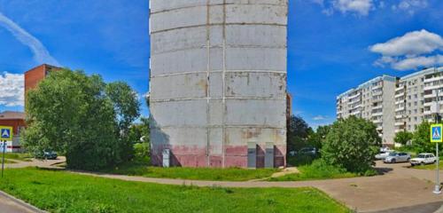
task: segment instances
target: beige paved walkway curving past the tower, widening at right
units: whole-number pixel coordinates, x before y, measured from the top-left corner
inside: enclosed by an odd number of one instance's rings
[[[33,161],[8,164],[8,168],[27,166],[51,167],[56,161]],[[222,187],[315,187],[330,194],[334,199],[343,202],[357,212],[423,212],[431,213],[443,204],[443,194],[433,194],[435,171],[406,168],[408,163],[384,164],[377,162],[377,170],[384,175],[376,177],[354,177],[329,180],[312,180],[296,182],[266,181],[201,181],[151,177],[134,177],[90,172],[71,171],[76,174],[140,181],[167,185],[197,185]],[[443,171],[440,173],[443,180]],[[441,211],[443,213],[443,211]]]

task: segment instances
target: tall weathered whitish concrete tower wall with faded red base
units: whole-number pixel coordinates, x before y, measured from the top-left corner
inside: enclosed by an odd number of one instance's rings
[[[151,0],[152,163],[257,167],[286,154],[287,0]]]

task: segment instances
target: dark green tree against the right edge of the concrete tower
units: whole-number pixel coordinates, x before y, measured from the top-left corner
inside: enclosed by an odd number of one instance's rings
[[[288,152],[299,150],[307,146],[307,138],[314,131],[307,125],[307,122],[300,116],[291,115],[287,130],[287,150]]]

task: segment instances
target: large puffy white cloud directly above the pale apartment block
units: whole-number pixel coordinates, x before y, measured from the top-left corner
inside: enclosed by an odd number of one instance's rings
[[[381,54],[382,57],[374,63],[379,67],[390,65],[397,70],[408,70],[443,64],[439,54],[443,51],[443,38],[424,29],[377,43],[369,50]]]

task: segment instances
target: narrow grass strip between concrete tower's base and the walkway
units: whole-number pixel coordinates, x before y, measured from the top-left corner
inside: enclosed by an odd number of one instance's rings
[[[246,170],[240,168],[215,169],[215,168],[183,168],[152,167],[139,163],[128,163],[113,170],[103,170],[106,173],[119,175],[180,178],[191,180],[225,180],[245,181],[270,177],[276,169]]]

